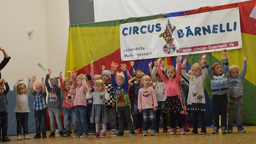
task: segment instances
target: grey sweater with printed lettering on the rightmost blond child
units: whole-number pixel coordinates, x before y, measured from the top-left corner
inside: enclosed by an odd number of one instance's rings
[[[243,95],[243,79],[247,71],[247,64],[244,62],[241,74],[236,78],[228,75],[228,90],[230,96]]]

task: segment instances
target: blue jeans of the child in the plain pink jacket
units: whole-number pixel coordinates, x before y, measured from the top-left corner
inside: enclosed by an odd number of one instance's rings
[[[75,106],[76,109],[76,119],[78,123],[78,131],[80,134],[88,133],[88,125],[86,121],[86,107],[85,106]]]

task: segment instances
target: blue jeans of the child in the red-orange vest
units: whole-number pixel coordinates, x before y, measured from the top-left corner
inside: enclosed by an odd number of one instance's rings
[[[75,108],[65,108],[64,107],[63,117],[64,117],[66,131],[68,131],[68,130],[71,131],[71,129],[70,129],[71,122],[72,122],[74,130],[78,129]]]

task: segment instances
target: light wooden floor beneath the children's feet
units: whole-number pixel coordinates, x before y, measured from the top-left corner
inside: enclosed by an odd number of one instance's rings
[[[231,134],[211,134],[212,128],[207,127],[206,135],[190,135],[189,132],[186,135],[180,135],[177,132],[176,135],[169,135],[168,133],[157,133],[156,136],[142,136],[142,134],[137,134],[137,136],[131,136],[128,134],[128,130],[125,131],[124,136],[115,137],[115,135],[110,134],[107,131],[107,138],[93,138],[90,135],[89,138],[72,138],[72,137],[56,137],[53,138],[39,138],[34,139],[35,133],[30,133],[29,140],[16,140],[16,136],[9,136],[10,142],[5,142],[8,144],[77,144],[77,143],[92,143],[92,144],[115,144],[115,143],[129,143],[129,144],[256,144],[256,126],[245,126],[244,129],[246,133],[238,133],[237,128],[233,127],[233,133]],[[192,130],[192,129],[190,129]],[[200,131],[200,129],[198,129]],[[221,130],[219,130],[221,131]],[[151,132],[151,130],[149,130]],[[50,131],[47,132],[47,136],[50,135]],[[71,134],[72,135],[72,134]],[[24,138],[22,136],[22,138]]]

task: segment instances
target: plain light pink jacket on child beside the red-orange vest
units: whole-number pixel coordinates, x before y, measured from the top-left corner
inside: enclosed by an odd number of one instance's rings
[[[86,106],[86,92],[89,86],[86,84],[85,79],[82,80],[82,85],[76,86],[72,84],[69,92],[75,94],[74,106]]]

